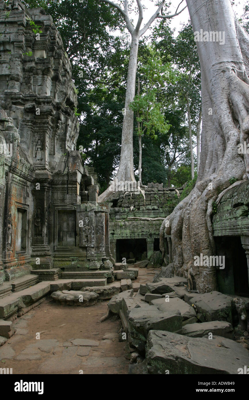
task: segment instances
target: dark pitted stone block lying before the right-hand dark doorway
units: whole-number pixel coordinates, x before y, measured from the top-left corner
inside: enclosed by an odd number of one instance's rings
[[[202,313],[205,321],[227,321],[232,323],[232,298],[220,292],[189,293],[184,297],[189,304],[194,304],[196,311]]]

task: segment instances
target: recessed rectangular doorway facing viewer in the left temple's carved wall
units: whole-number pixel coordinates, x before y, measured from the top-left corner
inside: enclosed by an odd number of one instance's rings
[[[76,211],[58,210],[58,246],[76,246]]]

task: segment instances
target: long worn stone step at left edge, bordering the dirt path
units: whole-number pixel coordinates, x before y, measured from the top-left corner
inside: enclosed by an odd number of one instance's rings
[[[0,318],[9,318],[18,310],[30,306],[50,291],[50,284],[38,283],[0,299]]]

